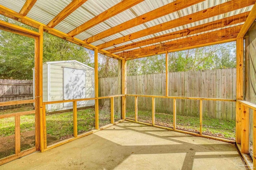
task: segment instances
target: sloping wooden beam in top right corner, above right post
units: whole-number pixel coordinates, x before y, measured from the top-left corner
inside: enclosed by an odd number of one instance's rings
[[[252,23],[255,21],[256,19],[256,3],[254,4],[248,18],[246,19],[240,33],[237,35],[237,38],[243,38],[244,35],[246,34],[246,32],[249,30],[249,28],[251,27]]]

